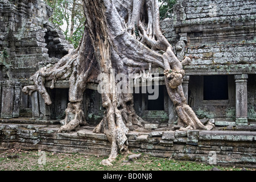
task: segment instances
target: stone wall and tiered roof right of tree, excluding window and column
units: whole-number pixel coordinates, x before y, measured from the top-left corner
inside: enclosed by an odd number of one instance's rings
[[[190,77],[188,94],[193,101],[189,103],[196,114],[220,119],[220,125],[236,125],[236,88],[240,88],[236,75],[245,74],[248,90],[242,102],[247,118],[255,122],[255,1],[180,0],[174,6],[174,18],[163,20],[161,27],[180,60],[192,56],[184,70]],[[204,78],[214,75],[228,75],[228,99],[204,100]]]

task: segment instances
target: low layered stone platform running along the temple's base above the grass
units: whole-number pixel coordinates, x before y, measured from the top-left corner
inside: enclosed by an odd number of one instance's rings
[[[105,134],[93,133],[95,126],[82,126],[71,133],[57,133],[55,122],[0,123],[0,150],[44,150],[81,152],[108,156]],[[38,121],[39,122],[39,121]],[[57,122],[56,122],[57,123]],[[218,165],[256,167],[256,131],[151,129],[127,134],[129,150],[152,156]]]

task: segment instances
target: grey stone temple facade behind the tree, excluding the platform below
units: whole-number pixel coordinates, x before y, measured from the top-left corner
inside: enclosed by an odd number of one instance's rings
[[[27,96],[20,90],[39,68],[56,63],[73,47],[49,23],[52,10],[43,1],[4,0],[0,10],[0,117],[59,121],[68,104],[68,80],[48,89],[51,106],[44,105],[37,92]],[[177,1],[174,18],[162,20],[161,27],[180,60],[192,57],[192,63],[184,66],[183,90],[197,117],[216,126],[255,125],[255,2]],[[151,123],[176,124],[163,70],[152,73],[159,77],[159,97],[148,100],[148,93],[134,93],[135,110]],[[86,119],[96,125],[104,113],[97,84],[88,84],[85,94]]]

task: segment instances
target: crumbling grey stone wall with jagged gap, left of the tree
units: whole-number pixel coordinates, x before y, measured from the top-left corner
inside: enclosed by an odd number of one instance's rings
[[[28,78],[39,68],[55,64],[73,49],[61,31],[49,22],[51,14],[51,7],[42,0],[0,0],[0,81],[2,85],[10,85],[12,93],[15,86],[10,82],[19,82],[21,88],[29,85]],[[2,94],[2,97],[2,101],[9,102],[9,97],[14,96]],[[18,114],[10,114],[13,113],[10,106],[2,111],[1,118],[32,117],[31,97],[19,92],[16,100]]]

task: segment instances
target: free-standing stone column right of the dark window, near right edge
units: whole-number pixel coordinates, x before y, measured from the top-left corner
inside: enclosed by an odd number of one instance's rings
[[[247,74],[235,75],[236,80],[236,125],[247,125]]]

